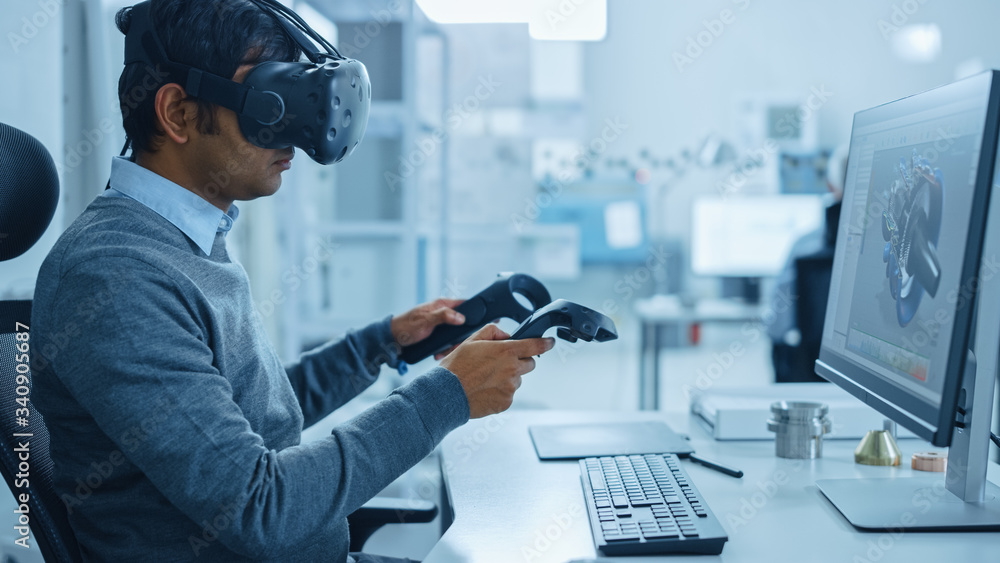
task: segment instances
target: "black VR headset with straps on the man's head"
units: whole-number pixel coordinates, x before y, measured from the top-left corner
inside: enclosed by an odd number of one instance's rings
[[[249,1],[281,25],[308,62],[260,63],[241,84],[171,61],[145,1],[132,7],[125,64],[159,67],[189,96],[233,110],[243,136],[258,147],[294,146],[320,164],[340,162],[354,152],[368,126],[368,70],[341,55],[289,8],[274,0]]]

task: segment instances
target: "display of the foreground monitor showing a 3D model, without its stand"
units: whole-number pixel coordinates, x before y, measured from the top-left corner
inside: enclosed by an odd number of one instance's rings
[[[854,119],[820,359],[924,437],[950,420],[968,349],[990,87],[980,75]]]

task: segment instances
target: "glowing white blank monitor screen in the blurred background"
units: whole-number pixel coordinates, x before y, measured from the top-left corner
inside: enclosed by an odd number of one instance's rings
[[[823,228],[817,195],[696,199],[691,213],[691,270],[703,276],[781,273],[792,246]]]

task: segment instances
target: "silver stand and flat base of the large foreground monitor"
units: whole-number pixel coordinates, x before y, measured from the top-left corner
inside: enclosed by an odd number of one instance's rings
[[[1000,252],[1000,194],[991,198],[982,256]],[[948,470],[895,479],[824,479],[823,494],[855,527],[869,531],[1000,531],[1000,487],[986,479],[997,356],[1000,276],[980,270],[972,333],[959,391]],[[920,474],[920,471],[914,471]]]

